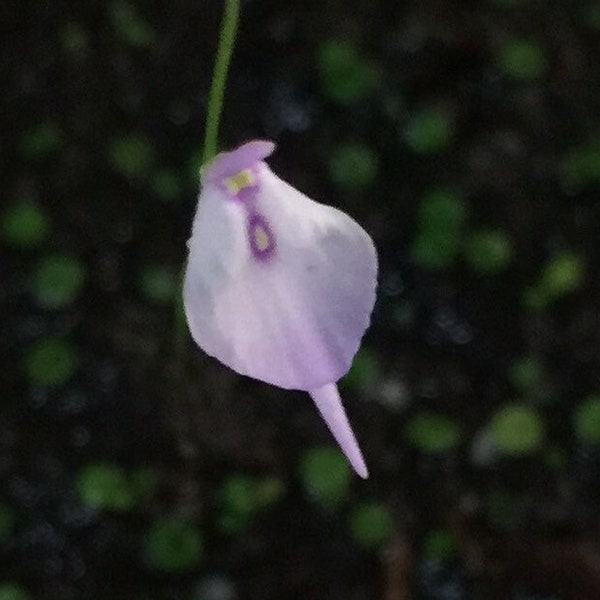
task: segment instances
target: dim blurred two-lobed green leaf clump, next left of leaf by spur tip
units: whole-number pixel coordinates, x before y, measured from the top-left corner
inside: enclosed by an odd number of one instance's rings
[[[228,534],[245,531],[264,509],[275,504],[285,491],[280,479],[237,474],[228,477],[220,492],[218,526]]]

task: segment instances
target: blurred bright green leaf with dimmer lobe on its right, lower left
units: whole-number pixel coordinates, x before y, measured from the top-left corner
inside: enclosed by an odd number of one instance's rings
[[[137,502],[151,496],[157,486],[154,472],[141,468],[126,474],[110,463],[83,466],[76,475],[75,487],[81,502],[96,510],[128,512]]]

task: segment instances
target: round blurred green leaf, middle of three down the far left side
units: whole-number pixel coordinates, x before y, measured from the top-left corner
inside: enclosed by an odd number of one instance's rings
[[[42,308],[65,308],[79,297],[85,278],[85,266],[77,257],[52,254],[43,257],[33,270],[31,293]]]

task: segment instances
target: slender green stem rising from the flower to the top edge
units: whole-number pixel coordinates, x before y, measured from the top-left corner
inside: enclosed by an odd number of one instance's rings
[[[240,0],[225,0],[225,12],[221,21],[219,47],[215,60],[210,95],[208,97],[208,112],[206,114],[206,133],[204,137],[204,152],[202,164],[206,164],[217,154],[219,121],[223,110],[223,97],[227,72],[235,45],[235,36],[240,15]]]

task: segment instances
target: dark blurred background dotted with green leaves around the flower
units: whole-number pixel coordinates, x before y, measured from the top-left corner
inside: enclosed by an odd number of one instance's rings
[[[243,5],[221,147],[379,250],[366,482],[174,343],[221,11],[0,5],[0,599],[600,598],[600,4]]]

